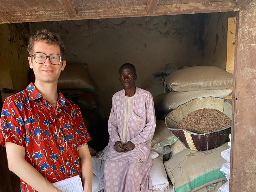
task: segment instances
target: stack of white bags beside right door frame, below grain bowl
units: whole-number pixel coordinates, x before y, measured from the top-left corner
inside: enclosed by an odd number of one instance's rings
[[[228,142],[229,148],[221,152],[221,156],[226,160],[222,165],[221,171],[227,178],[227,183],[223,184],[217,192],[229,192],[229,175],[230,175],[230,146],[231,146],[231,135],[229,134],[230,141]]]

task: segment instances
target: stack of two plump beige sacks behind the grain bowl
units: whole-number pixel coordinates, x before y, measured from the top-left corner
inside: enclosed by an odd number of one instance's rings
[[[233,74],[214,66],[195,66],[180,69],[168,75],[166,86],[171,91],[158,106],[168,113],[178,106],[196,98],[225,98],[232,93]]]

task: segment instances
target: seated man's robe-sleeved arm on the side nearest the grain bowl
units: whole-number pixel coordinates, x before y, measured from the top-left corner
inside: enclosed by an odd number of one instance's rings
[[[146,127],[140,132],[139,135],[132,138],[130,141],[136,146],[140,143],[145,143],[153,138],[155,128],[156,128],[156,117],[153,97],[151,94],[147,97],[147,107],[146,107]]]

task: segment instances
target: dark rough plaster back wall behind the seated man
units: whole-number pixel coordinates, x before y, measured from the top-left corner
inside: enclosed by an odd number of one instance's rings
[[[112,95],[122,89],[119,67],[133,63],[136,86],[153,96],[163,93],[152,74],[172,63],[203,64],[204,15],[117,18],[31,23],[31,32],[42,27],[61,34],[67,47],[68,64],[87,63],[96,85],[97,97],[105,119],[111,109]]]

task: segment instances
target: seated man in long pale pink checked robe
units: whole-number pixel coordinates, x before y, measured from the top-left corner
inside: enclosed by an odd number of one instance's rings
[[[137,75],[132,64],[123,64],[119,74],[124,89],[112,98],[104,192],[152,191],[149,153],[156,126],[153,98],[150,92],[135,87]]]

